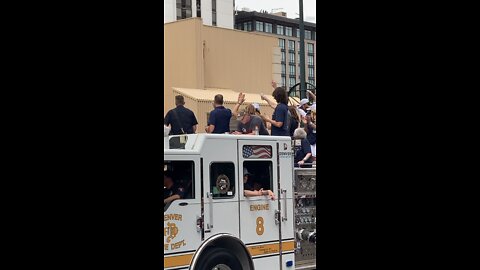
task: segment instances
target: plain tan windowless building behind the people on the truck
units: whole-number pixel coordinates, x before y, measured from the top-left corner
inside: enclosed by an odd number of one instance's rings
[[[281,81],[278,38],[205,26],[200,18],[167,23],[164,30],[164,115],[174,96],[184,95],[203,131],[216,94],[233,108],[244,92],[246,104],[257,102],[271,116],[260,93],[271,94],[271,81]]]

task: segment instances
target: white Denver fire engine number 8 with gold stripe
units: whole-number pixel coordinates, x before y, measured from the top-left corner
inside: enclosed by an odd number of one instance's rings
[[[164,173],[183,197],[164,202],[164,269],[316,268],[315,168],[294,169],[289,137],[168,132]],[[276,198],[245,196],[247,172]]]

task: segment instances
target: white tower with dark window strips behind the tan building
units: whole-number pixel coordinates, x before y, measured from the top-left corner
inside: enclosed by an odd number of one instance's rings
[[[164,0],[163,23],[202,18],[203,24],[233,29],[235,0]]]

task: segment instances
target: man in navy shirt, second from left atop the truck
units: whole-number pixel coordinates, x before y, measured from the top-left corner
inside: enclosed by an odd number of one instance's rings
[[[215,96],[213,106],[215,109],[210,112],[208,118],[207,133],[223,134],[230,132],[230,119],[232,111],[223,107],[223,96],[218,94]]]

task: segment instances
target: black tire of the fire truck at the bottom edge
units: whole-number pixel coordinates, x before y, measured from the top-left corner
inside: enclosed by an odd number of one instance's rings
[[[208,248],[202,254],[202,259],[198,263],[196,270],[212,270],[215,266],[225,265],[232,270],[242,270],[240,261],[228,249],[225,248]]]

